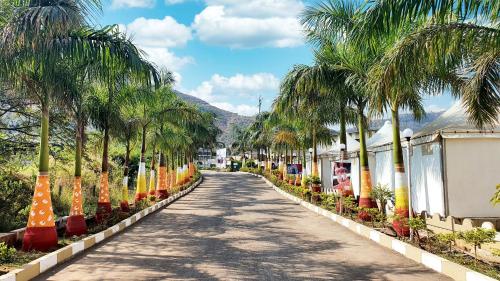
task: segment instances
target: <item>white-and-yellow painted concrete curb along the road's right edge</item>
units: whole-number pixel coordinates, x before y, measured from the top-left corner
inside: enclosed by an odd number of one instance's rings
[[[447,259],[444,259],[442,257],[439,257],[437,255],[431,254],[427,251],[424,251],[420,248],[417,248],[411,244],[405,243],[401,240],[395,239],[393,237],[390,237],[388,235],[385,235],[384,233],[381,233],[379,231],[373,230],[370,227],[367,227],[363,224],[357,223],[353,220],[344,218],[342,216],[339,216],[337,214],[334,214],[328,210],[325,210],[321,207],[318,207],[316,205],[313,205],[309,202],[306,202],[300,198],[297,198],[286,191],[280,189],[279,187],[275,186],[272,182],[270,182],[268,179],[266,179],[264,176],[261,175],[255,175],[252,173],[247,173],[247,172],[240,172],[243,174],[249,174],[255,177],[262,178],[266,184],[269,187],[272,187],[276,192],[281,194],[282,196],[286,197],[289,200],[292,200],[298,204],[300,204],[302,207],[309,209],[310,211],[315,212],[316,214],[320,216],[324,216],[328,219],[333,220],[334,222],[348,228],[349,230],[357,233],[358,235],[361,235],[367,239],[370,239],[374,241],[375,243],[385,247],[389,248],[395,252],[398,252],[399,254],[414,260],[417,263],[420,263],[428,268],[431,268],[441,274],[444,274],[446,276],[449,276],[455,280],[460,280],[460,281],[495,281],[495,279],[488,277],[484,274],[481,274],[479,272],[473,271],[471,269],[466,268],[465,266],[459,265],[457,263],[454,263],[452,261],[449,261]]]

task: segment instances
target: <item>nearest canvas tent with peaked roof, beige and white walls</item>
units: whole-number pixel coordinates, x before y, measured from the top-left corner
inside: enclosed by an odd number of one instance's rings
[[[479,130],[468,122],[462,104],[457,102],[417,132],[411,143],[416,211],[500,217],[499,208],[489,202],[500,183],[500,121]]]

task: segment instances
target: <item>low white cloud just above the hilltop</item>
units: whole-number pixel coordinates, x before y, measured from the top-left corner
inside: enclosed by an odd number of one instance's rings
[[[278,78],[270,73],[236,74],[231,77],[214,74],[210,80],[202,82],[192,91],[187,91],[187,94],[227,111],[254,115],[258,112],[259,95],[274,94],[278,88]]]

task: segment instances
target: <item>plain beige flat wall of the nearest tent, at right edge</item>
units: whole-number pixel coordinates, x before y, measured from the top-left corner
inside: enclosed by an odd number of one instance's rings
[[[445,139],[449,215],[499,217],[490,199],[500,183],[500,139]]]

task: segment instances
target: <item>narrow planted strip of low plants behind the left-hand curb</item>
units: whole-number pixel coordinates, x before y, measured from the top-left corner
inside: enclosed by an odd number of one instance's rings
[[[169,195],[174,196],[175,194],[186,190],[194,182],[198,181],[200,177],[201,174],[196,172],[189,182],[172,187],[169,190]],[[88,217],[85,219],[88,227],[87,234],[81,236],[67,236],[65,225],[60,224],[57,228],[59,237],[58,245],[52,250],[56,251],[57,249],[65,247],[75,241],[82,240],[88,236],[104,231],[122,220],[153,206],[157,201],[161,200],[158,200],[153,195],[149,195],[147,200],[140,200],[135,204],[130,205],[128,211],[123,211],[122,208],[117,206],[112,209],[111,213],[100,218],[99,220],[97,220],[95,216]],[[22,251],[21,246],[20,241],[16,242],[13,247],[6,245],[4,242],[0,243],[0,275],[6,274],[13,269],[20,268],[22,265],[47,254],[47,252],[40,251]]]

